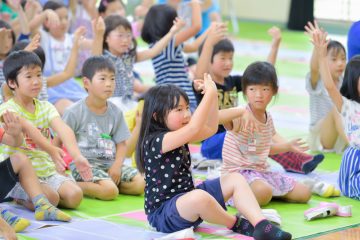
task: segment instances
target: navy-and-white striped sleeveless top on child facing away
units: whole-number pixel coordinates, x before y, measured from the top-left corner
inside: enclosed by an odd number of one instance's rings
[[[173,38],[168,46],[152,59],[156,76],[155,82],[158,85],[174,84],[183,89],[189,97],[191,109],[195,110],[197,106],[196,99],[192,83],[185,70],[182,49],[183,44],[175,46],[175,38]]]

